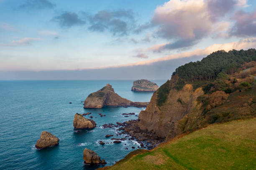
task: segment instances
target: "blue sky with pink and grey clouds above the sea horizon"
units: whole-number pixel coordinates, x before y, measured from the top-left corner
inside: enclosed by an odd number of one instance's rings
[[[167,80],[248,48],[255,0],[0,0],[0,80]]]

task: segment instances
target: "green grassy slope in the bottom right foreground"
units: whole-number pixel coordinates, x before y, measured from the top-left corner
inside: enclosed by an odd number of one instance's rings
[[[139,154],[138,154],[139,153]],[[136,150],[110,170],[252,170],[256,118],[210,125],[152,151]]]

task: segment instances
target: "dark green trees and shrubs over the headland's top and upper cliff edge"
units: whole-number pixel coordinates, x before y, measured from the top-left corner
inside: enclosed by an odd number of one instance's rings
[[[222,90],[226,93],[233,92],[237,89],[249,88],[247,82],[253,82],[255,76],[251,76],[256,73],[256,50],[232,50],[225,52],[220,50],[213,52],[201,61],[189,62],[185,65],[178,67],[175,72],[172,73],[172,79],[159,87],[157,91],[158,100],[157,105],[161,106],[166,101],[167,95],[171,89],[181,90],[186,83],[192,84],[193,89],[203,87],[205,93],[209,92],[212,87],[214,92],[216,90]],[[250,67],[253,69],[247,70]],[[244,70],[241,72],[241,70]],[[234,76],[231,76],[234,75]],[[245,82],[237,83],[237,78],[246,78]],[[229,82],[225,81],[229,80]],[[247,83],[247,84],[246,84]]]

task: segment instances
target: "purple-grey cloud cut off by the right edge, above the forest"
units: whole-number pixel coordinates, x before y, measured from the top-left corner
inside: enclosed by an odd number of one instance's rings
[[[237,37],[256,35],[256,11],[251,13],[238,11],[233,16],[233,20],[236,20],[236,23],[230,29],[230,35]]]

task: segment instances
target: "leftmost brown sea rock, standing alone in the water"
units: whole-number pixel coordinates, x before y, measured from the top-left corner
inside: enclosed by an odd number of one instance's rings
[[[54,145],[59,145],[59,138],[46,131],[41,133],[40,139],[36,142],[37,149],[48,148]]]

